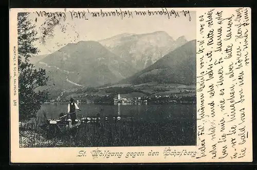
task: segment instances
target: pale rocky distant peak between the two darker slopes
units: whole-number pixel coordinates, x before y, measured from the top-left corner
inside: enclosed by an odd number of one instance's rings
[[[142,70],[170,51],[187,42],[185,36],[177,40],[164,31],[145,34],[123,33],[99,41],[109,51],[120,56],[137,70]]]

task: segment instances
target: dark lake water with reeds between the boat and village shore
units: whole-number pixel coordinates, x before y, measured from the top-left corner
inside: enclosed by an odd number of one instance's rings
[[[48,119],[66,114],[68,104],[44,104],[38,112]],[[172,146],[196,144],[195,104],[78,104],[77,118],[96,117],[100,123],[82,123],[76,136],[61,136],[63,146]],[[120,120],[114,119],[120,117]],[[105,120],[105,118],[108,118]],[[62,145],[58,145],[62,147]]]

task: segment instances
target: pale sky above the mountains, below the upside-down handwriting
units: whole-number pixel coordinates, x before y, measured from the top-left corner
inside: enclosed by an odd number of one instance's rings
[[[42,44],[36,42],[35,45],[40,49],[39,54],[52,53],[68,43],[79,41],[98,41],[122,33],[150,33],[155,31],[166,31],[176,40],[184,35],[188,41],[196,39],[196,14],[190,11],[189,17],[180,14],[180,17],[170,17],[165,15],[158,16],[136,16],[133,18],[119,16],[91,17],[86,13],[88,20],[84,18],[72,18],[70,12],[66,12],[66,20],[61,20],[60,24],[54,27],[54,36],[47,39]],[[88,14],[88,15],[87,15]],[[36,13],[30,13],[30,19],[38,30],[41,37],[41,25],[46,21],[46,17],[38,17]],[[36,22],[35,22],[36,18]],[[61,31],[62,27],[66,28]]]

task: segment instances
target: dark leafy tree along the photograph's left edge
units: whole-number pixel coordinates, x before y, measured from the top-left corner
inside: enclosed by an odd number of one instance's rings
[[[34,46],[38,40],[35,26],[29,19],[29,13],[18,13],[18,68],[19,68],[19,119],[28,121],[36,117],[36,112],[48,99],[47,90],[39,90],[48,81],[43,68],[36,69],[29,63],[31,56],[38,54]]]

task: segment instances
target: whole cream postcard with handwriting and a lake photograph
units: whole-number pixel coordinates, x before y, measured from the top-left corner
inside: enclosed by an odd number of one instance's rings
[[[251,9],[10,9],[12,163],[251,162]]]

